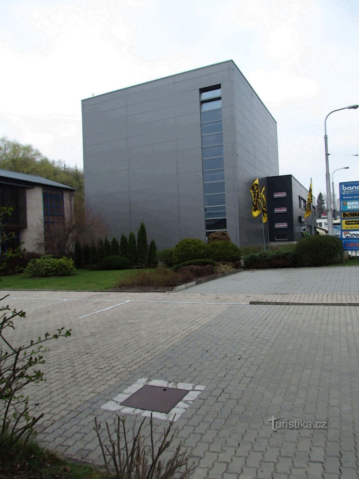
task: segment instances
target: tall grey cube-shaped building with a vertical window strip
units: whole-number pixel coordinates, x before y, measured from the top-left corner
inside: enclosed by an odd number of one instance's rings
[[[83,100],[82,121],[86,202],[111,234],[263,241],[249,187],[279,173],[277,125],[232,60]]]

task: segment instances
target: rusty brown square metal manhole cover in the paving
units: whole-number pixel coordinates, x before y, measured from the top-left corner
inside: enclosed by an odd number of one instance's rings
[[[125,399],[121,406],[168,414],[189,392],[187,389],[164,388],[146,384]]]

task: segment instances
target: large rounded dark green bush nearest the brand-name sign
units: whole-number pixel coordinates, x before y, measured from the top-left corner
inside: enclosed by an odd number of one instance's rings
[[[335,236],[313,235],[295,245],[298,266],[325,266],[343,261],[343,244]]]

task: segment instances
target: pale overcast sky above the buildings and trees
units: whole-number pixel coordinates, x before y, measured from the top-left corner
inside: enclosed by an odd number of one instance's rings
[[[358,0],[2,0],[0,136],[82,168],[82,99],[233,59],[277,121],[280,174],[325,193],[325,116],[359,102],[358,21]],[[331,171],[350,167],[336,183],[359,180],[359,109],[327,132]]]

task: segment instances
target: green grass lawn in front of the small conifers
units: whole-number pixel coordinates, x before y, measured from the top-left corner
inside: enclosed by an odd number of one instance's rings
[[[73,276],[29,278],[22,273],[1,276],[0,289],[108,289],[128,274],[145,270],[90,271],[76,270]]]

